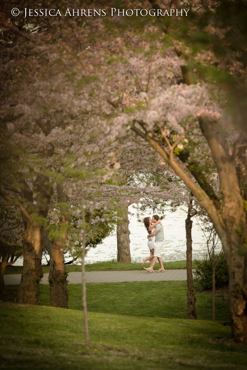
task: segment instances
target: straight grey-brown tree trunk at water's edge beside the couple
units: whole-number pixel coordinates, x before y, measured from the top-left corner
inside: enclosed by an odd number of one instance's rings
[[[120,221],[120,224],[117,224],[118,262],[130,263],[128,207],[124,208],[121,217],[123,220]]]

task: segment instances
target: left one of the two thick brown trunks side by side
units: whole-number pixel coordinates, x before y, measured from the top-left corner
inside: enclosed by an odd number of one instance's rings
[[[23,237],[23,272],[17,300],[18,303],[39,304],[39,285],[43,277],[41,267],[41,226],[31,220],[27,220],[25,224],[26,232]]]

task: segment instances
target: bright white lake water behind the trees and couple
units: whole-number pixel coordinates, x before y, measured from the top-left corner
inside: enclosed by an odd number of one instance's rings
[[[131,213],[136,210],[129,207]],[[151,216],[152,215],[146,215]],[[177,261],[186,259],[186,234],[185,234],[185,219],[187,217],[183,208],[178,208],[175,212],[165,212],[165,219],[162,220],[164,225],[165,244],[163,246],[162,259],[164,261]],[[207,254],[206,242],[204,234],[198,224],[193,220],[192,226],[192,258],[203,259]],[[147,231],[143,222],[138,222],[137,216],[129,216],[129,231],[130,231],[130,255],[132,262],[140,262],[143,258],[149,256],[147,246]],[[66,261],[71,258],[66,257]],[[91,248],[85,257],[85,262],[98,262],[117,259],[117,235],[116,230],[113,235],[105,238],[102,244],[96,248]],[[78,263],[78,261],[76,262]],[[23,259],[18,259],[15,265],[22,265]],[[42,264],[46,264],[46,259],[42,259]]]

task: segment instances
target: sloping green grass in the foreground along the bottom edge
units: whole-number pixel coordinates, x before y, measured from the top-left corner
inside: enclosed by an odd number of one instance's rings
[[[246,347],[217,321],[89,312],[86,350],[82,311],[5,303],[0,317],[4,370],[246,370]]]

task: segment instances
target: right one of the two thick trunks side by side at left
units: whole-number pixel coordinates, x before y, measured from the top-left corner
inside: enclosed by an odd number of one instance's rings
[[[63,257],[64,243],[54,240],[52,243],[49,269],[50,305],[68,308],[69,293],[67,289],[67,273]]]

